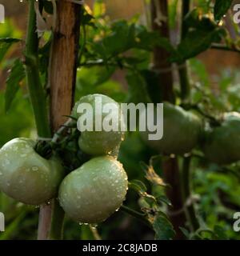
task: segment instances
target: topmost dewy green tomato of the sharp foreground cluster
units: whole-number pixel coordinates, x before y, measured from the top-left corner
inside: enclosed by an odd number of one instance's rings
[[[81,136],[79,138],[78,144],[83,152],[91,155],[102,155],[102,154],[111,154],[122,142],[124,138],[124,133],[120,131],[120,122],[123,120],[122,112],[119,108],[118,102],[115,102],[112,98],[107,97],[102,94],[91,94],[82,97],[74,106],[72,115],[75,118],[79,118],[82,114],[77,113],[78,105],[80,103],[90,103],[90,106],[93,107],[93,128],[95,128],[95,117],[102,115],[102,120],[106,118],[107,114],[103,113],[101,109],[95,110],[95,98],[101,98],[102,106],[106,103],[112,103],[116,106],[116,111],[118,114],[118,130],[116,131],[82,131]],[[90,118],[90,115],[87,116]]]

